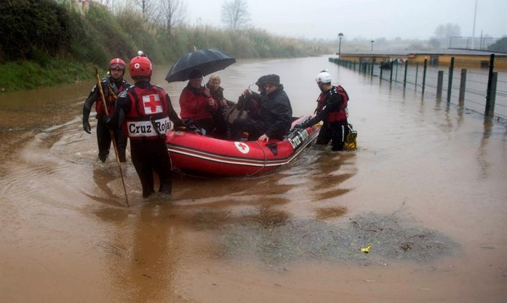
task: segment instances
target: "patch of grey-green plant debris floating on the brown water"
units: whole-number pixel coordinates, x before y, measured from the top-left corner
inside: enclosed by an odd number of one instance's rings
[[[277,224],[240,220],[220,227],[221,250],[224,256],[253,255],[271,265],[315,258],[367,265],[378,264],[382,257],[425,262],[452,254],[459,247],[438,231],[402,221],[395,215],[374,213],[350,218],[339,226],[293,217],[285,217]],[[365,243],[371,245],[363,248]],[[375,258],[366,257],[368,253]]]

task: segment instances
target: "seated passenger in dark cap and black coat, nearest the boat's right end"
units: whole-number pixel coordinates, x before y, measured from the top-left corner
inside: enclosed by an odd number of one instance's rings
[[[292,123],[292,107],[280,76],[270,74],[264,78],[265,97],[257,115],[245,119],[236,119],[233,123],[231,138],[239,140],[244,131],[248,139],[257,138],[269,142],[269,139],[282,139],[289,131]]]

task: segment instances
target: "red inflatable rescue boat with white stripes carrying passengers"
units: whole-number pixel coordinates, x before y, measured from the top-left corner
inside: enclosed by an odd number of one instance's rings
[[[309,119],[301,116],[292,126]],[[221,176],[261,174],[289,163],[319,133],[318,127],[292,128],[283,140],[227,141],[185,131],[167,134],[173,168]]]

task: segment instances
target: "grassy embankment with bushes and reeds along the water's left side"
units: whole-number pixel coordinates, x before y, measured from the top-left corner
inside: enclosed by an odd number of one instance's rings
[[[30,16],[26,18],[24,16]],[[324,44],[240,31],[182,25],[170,30],[135,11],[113,15],[91,5],[86,14],[67,0],[7,0],[0,4],[0,90],[14,91],[73,83],[94,76],[110,58],[127,61],[143,50],[156,64],[174,62],[199,49],[218,48],[241,58],[298,57],[330,53]]]

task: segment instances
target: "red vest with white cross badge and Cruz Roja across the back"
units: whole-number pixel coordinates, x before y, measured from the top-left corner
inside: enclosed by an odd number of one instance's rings
[[[158,139],[171,128],[165,91],[157,86],[127,90],[131,101],[123,129],[131,140]]]

